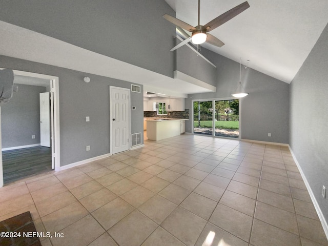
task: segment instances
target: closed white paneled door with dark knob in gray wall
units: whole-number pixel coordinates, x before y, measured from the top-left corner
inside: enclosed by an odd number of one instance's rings
[[[110,87],[112,154],[129,150],[130,90]]]

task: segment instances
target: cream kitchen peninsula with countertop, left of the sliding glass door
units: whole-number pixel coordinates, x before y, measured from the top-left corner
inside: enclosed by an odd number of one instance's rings
[[[145,118],[147,121],[147,138],[158,141],[185,133],[185,120],[175,118]]]

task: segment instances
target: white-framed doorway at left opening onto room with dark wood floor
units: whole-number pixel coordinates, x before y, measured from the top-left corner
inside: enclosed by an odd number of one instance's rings
[[[18,91],[1,107],[0,187],[60,166],[58,77],[13,72]]]

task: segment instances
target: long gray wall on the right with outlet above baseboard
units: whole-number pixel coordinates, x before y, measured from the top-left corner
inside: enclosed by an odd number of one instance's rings
[[[328,25],[291,83],[290,146],[328,221]]]

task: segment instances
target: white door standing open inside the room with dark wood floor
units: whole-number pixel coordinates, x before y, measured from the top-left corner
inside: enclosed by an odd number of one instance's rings
[[[50,93],[40,93],[40,146],[51,146],[50,120]]]

